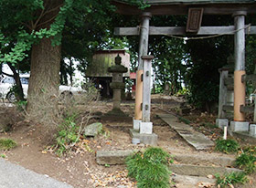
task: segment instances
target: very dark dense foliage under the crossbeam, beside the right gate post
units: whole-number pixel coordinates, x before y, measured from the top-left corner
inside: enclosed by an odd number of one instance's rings
[[[232,37],[216,37],[187,42],[191,67],[187,69],[190,102],[211,110],[219,98],[219,68],[227,64],[233,51]]]

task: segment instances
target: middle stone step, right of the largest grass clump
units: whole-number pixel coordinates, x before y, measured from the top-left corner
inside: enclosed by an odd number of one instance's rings
[[[180,175],[192,175],[192,176],[208,176],[209,174],[214,175],[219,173],[220,175],[229,172],[242,172],[235,168],[225,168],[216,166],[201,166],[191,164],[171,164],[169,167],[170,171]]]

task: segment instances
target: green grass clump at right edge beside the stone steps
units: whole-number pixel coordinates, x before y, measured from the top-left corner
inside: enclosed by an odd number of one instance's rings
[[[242,148],[239,151],[236,164],[246,173],[256,172],[256,146]]]

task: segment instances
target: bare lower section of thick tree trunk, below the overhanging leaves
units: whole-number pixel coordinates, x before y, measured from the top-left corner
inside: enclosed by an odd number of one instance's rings
[[[42,98],[45,99],[44,94],[50,92],[54,96],[58,93],[60,57],[60,46],[52,47],[49,38],[43,38],[39,44],[32,47],[28,112],[35,110],[37,102]]]

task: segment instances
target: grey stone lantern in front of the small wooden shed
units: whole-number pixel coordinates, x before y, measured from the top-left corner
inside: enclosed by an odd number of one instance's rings
[[[114,59],[115,65],[108,68],[108,72],[112,73],[111,89],[113,90],[113,107],[112,110],[120,110],[121,93],[124,89],[123,73],[127,72],[127,68],[121,65],[122,58],[117,55]]]

